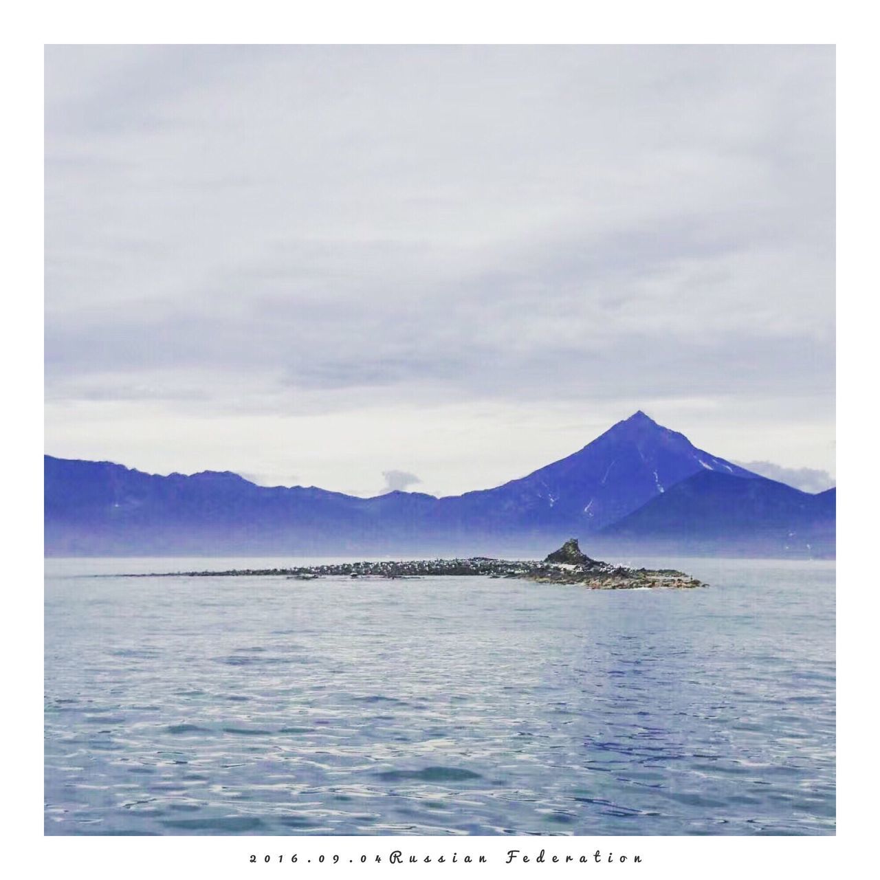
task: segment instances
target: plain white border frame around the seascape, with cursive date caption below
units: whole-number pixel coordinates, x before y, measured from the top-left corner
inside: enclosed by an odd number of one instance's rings
[[[693,2],[616,4],[610,8],[545,2],[476,3],[334,3],[313,6],[256,2],[229,3],[19,5],[7,13],[3,65],[5,191],[4,249],[9,266],[4,326],[4,376],[11,400],[4,432],[5,476],[12,482],[5,506],[5,534],[13,554],[7,561],[4,614],[4,670],[7,675],[4,725],[7,773],[3,817],[5,852],[0,864],[11,876],[64,872],[67,876],[155,876],[193,870],[211,876],[250,875],[257,868],[247,855],[297,852],[297,866],[309,876],[387,875],[386,862],[350,869],[344,862],[308,866],[303,859],[321,852],[358,857],[385,854],[393,848],[424,854],[466,852],[491,855],[486,866],[453,866],[446,872],[484,869],[533,876],[540,868],[504,866],[504,852],[519,848],[537,853],[629,852],[642,854],[640,876],[757,876],[796,873],[819,876],[837,869],[869,869],[873,812],[869,793],[873,774],[871,709],[876,690],[870,675],[876,613],[875,586],[868,575],[868,548],[876,515],[868,506],[876,495],[876,442],[869,422],[858,415],[874,407],[870,355],[876,347],[873,311],[876,283],[876,219],[869,213],[876,199],[877,138],[872,130],[876,94],[874,28],[856,4],[795,3],[706,4]],[[871,40],[871,42],[869,42]],[[839,114],[839,422],[840,583],[838,626],[840,670],[838,834],[799,839],[752,838],[180,838],[162,839],[43,837],[42,834],[42,534],[38,449],[41,439],[42,333],[42,47],[51,42],[514,42],[514,43],[834,43],[838,47]],[[870,262],[869,262],[870,260]],[[873,269],[873,271],[872,271]],[[861,295],[861,296],[860,296]],[[876,370],[875,370],[876,373]],[[23,463],[26,463],[24,465]],[[858,469],[858,477],[855,471]],[[350,854],[350,855],[349,855]],[[276,864],[276,862],[275,862]],[[417,876],[441,866],[403,869]],[[574,876],[584,866],[544,869]],[[586,868],[597,872],[605,864]],[[632,869],[632,862],[621,869]],[[18,869],[18,870],[16,870]],[[260,876],[265,876],[263,866]],[[249,875],[249,876],[250,876]]]

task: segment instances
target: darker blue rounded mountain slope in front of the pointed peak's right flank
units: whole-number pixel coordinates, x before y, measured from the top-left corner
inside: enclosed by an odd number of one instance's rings
[[[607,526],[604,539],[691,553],[759,548],[769,555],[833,554],[837,490],[810,495],[764,477],[697,473]]]

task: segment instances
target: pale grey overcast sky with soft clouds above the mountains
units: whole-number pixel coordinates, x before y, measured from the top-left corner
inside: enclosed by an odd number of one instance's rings
[[[45,83],[48,453],[451,495],[642,409],[833,481],[833,48],[52,46]]]

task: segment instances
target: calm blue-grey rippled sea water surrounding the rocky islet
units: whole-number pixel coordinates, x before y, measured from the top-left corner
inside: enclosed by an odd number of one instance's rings
[[[245,562],[47,561],[47,833],[834,832],[833,563],[107,576]]]

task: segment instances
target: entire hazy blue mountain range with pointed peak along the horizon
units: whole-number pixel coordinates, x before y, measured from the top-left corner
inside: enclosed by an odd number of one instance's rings
[[[836,493],[810,495],[697,449],[635,413],[496,488],[359,498],[238,474],[142,473],[45,457],[48,555],[546,553],[832,556]]]

